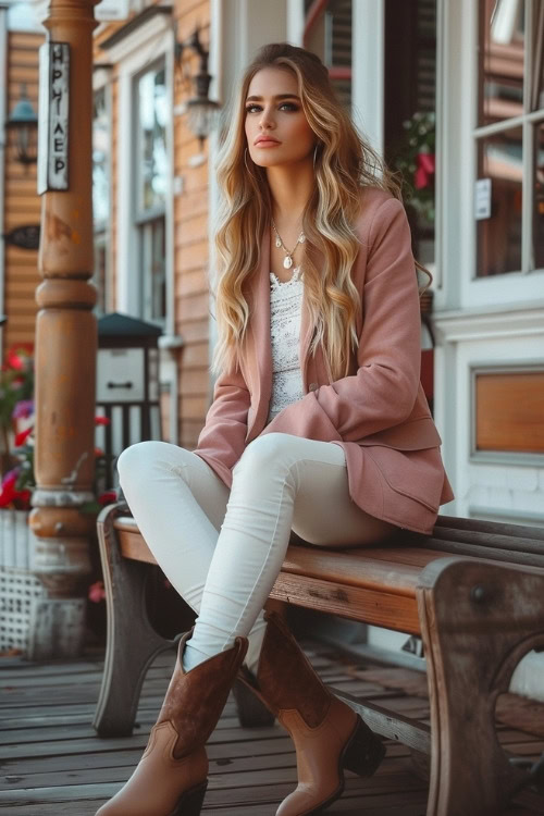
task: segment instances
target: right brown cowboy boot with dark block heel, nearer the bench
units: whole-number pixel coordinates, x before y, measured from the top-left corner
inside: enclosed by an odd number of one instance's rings
[[[297,754],[298,787],[276,816],[321,813],[344,792],[344,769],[372,776],[385,747],[353,708],[322,683],[288,627],[275,613],[268,622],[257,678],[242,679],[289,732]]]

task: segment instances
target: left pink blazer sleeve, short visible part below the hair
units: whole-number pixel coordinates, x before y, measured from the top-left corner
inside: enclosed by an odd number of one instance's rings
[[[213,401],[194,450],[228,487],[231,469],[246,447],[249,405],[249,391],[240,370],[222,373],[215,382]]]

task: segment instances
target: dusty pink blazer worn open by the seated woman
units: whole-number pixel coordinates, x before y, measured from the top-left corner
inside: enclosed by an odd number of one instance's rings
[[[360,250],[353,279],[363,304],[359,348],[348,376],[330,382],[323,355],[308,353],[302,300],[300,369],[305,396],[265,425],[272,387],[270,238],[248,296],[250,321],[240,367],[215,383],[195,450],[231,486],[232,468],[256,436],[281,432],[333,442],[346,455],[349,493],[367,512],[431,533],[438,507],[454,498],[441,437],[420,383],[421,329],[410,227],[400,201],[361,190]]]

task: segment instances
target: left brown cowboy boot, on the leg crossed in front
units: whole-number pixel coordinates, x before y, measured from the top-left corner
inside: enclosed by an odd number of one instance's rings
[[[208,786],[205,743],[215,728],[242,666],[247,638],[185,672],[177,662],[157,724],[139,764],[97,816],[199,816]]]

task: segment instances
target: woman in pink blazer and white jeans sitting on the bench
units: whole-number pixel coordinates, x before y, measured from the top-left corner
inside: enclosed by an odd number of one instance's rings
[[[261,49],[218,174],[213,404],[196,450],[146,442],[119,460],[198,618],[146,752],[100,816],[200,813],[205,743],[237,676],[295,743],[298,787],[277,814],[321,812],[345,768],[372,774],[382,742],[262,608],[292,530],[317,546],[430,533],[453,498],[419,381],[419,264],[398,187],[314,54]]]

